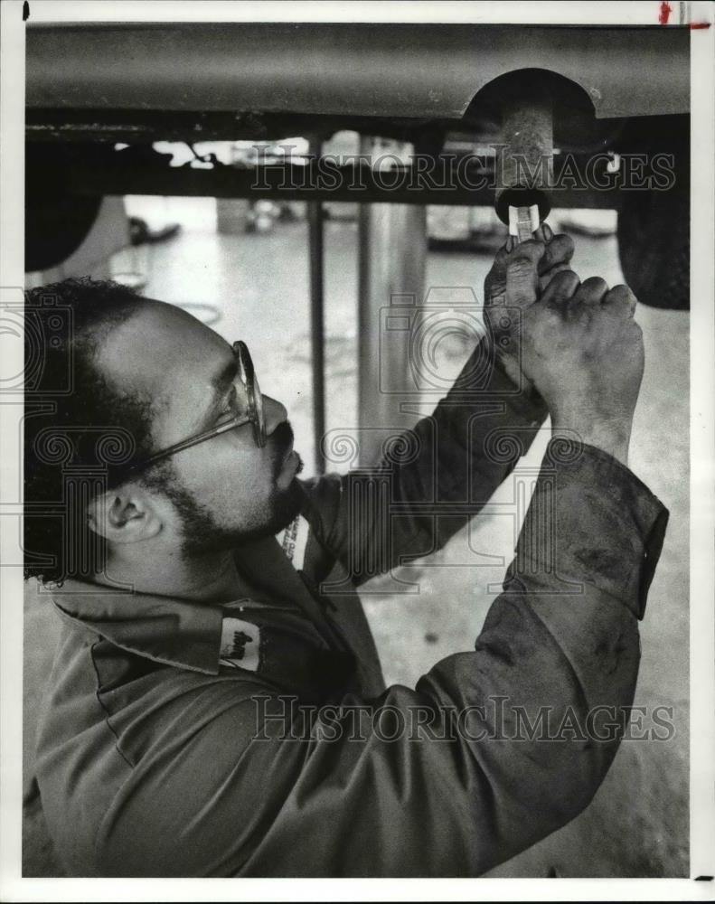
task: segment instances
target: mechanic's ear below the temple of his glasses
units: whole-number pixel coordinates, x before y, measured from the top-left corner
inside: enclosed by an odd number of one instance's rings
[[[137,543],[161,532],[164,522],[151,497],[132,485],[121,486],[87,506],[92,531],[112,543]]]

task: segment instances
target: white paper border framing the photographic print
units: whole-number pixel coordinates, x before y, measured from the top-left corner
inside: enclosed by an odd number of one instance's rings
[[[690,879],[99,880],[21,874],[23,575],[0,568],[0,900],[711,900],[715,883],[715,27],[707,2],[676,14],[691,31],[691,839]],[[431,21],[656,24],[661,4],[30,0],[33,21]],[[22,0],[0,5],[0,291],[24,286]],[[694,177],[697,174],[697,179]],[[2,376],[23,370],[5,343]],[[0,495],[20,485],[22,405],[0,406]],[[6,495],[10,494],[10,496]],[[0,517],[0,561],[18,554],[15,518]],[[476,883],[476,884],[475,884]]]

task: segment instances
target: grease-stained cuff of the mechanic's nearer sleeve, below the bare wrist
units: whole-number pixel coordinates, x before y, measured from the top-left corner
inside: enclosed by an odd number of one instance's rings
[[[669,513],[635,474],[601,449],[550,440],[519,541],[517,570],[588,583],[644,617]],[[532,542],[553,523],[551,541]],[[525,567],[525,571],[523,570]]]

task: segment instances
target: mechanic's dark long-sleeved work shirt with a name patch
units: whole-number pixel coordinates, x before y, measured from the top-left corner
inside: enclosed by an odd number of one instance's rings
[[[229,606],[56,591],[36,774],[70,874],[476,876],[578,815],[635,692],[667,521],[644,484],[552,440],[473,650],[415,688],[385,688],[355,592],[442,546],[544,414],[497,369],[457,381],[407,452],[306,482]]]

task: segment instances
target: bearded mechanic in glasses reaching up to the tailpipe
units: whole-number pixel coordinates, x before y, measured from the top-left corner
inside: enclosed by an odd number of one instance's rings
[[[501,250],[487,335],[412,452],[307,482],[245,346],[118,287],[52,287],[74,332],[42,379],[71,360],[75,391],[28,419],[26,502],[64,521],[28,516],[26,573],[62,620],[36,776],[71,874],[476,876],[588,805],[667,513],[627,468],[635,298],[581,283],[572,250],[548,228]],[[474,652],[385,689],[354,585],[446,542],[547,410]]]

